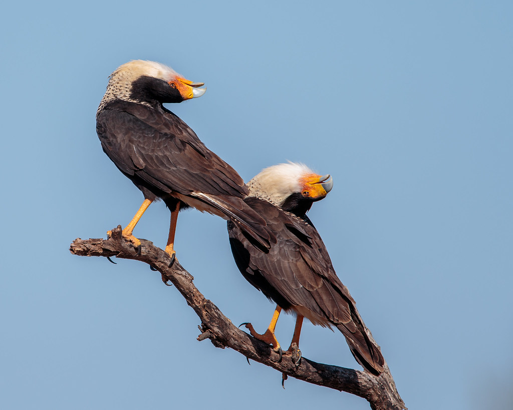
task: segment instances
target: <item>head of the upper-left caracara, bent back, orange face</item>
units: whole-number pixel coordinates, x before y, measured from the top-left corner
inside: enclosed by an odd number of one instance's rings
[[[201,97],[204,83],[193,83],[172,68],[155,61],[133,60],[117,68],[109,79],[105,97],[143,103],[181,103]],[[105,99],[104,97],[104,99]]]

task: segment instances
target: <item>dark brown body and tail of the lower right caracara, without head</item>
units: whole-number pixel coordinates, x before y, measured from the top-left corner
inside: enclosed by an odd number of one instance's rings
[[[367,336],[355,302],[309,219],[257,198],[245,202],[266,220],[270,236],[276,239],[264,252],[228,223],[233,256],[244,277],[283,309],[302,306],[313,313],[313,321],[337,326],[360,364],[373,374],[381,373],[384,359],[379,346]]]

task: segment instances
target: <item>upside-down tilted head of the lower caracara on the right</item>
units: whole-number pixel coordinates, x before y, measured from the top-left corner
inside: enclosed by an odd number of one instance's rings
[[[250,196],[267,200],[284,211],[304,215],[312,203],[323,199],[333,178],[318,175],[300,163],[281,163],[262,170],[248,183]]]

